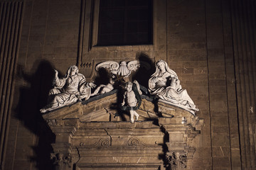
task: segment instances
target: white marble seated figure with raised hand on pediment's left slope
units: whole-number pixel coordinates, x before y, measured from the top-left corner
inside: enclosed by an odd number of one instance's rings
[[[41,108],[41,113],[73,104],[82,98],[87,100],[90,98],[91,88],[96,86],[92,82],[86,82],[85,76],[78,73],[78,67],[75,65],[69,67],[63,79],[58,78],[58,71],[55,70],[53,85],[54,88],[49,92],[49,97],[53,98],[49,98],[48,105]]]

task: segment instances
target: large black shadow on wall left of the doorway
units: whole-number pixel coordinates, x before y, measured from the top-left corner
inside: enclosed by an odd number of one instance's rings
[[[39,170],[54,169],[50,160],[50,153],[53,148],[50,144],[55,141],[55,135],[51,132],[39,111],[46,106],[48,92],[52,88],[53,66],[46,60],[35,62],[32,75],[23,72],[18,67],[19,76],[26,81],[28,87],[21,87],[18,106],[16,108],[16,118],[23,122],[34,135],[38,137],[38,143],[33,148],[34,156],[28,156],[31,162],[36,162]]]

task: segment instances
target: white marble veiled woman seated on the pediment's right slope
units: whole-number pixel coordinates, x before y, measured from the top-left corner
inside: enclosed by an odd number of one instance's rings
[[[186,89],[182,89],[176,72],[164,60],[156,62],[156,72],[149,79],[149,92],[193,114],[198,111]]]

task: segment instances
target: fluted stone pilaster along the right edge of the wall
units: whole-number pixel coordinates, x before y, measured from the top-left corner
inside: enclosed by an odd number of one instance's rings
[[[231,3],[242,169],[255,169],[255,32],[251,13],[254,5],[250,0]]]

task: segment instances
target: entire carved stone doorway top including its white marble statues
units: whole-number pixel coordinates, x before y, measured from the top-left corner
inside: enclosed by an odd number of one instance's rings
[[[41,113],[56,137],[56,169],[159,170],[192,164],[196,149],[190,144],[203,128],[198,108],[164,60],[146,80],[148,89],[132,80],[142,66],[139,61],[99,63],[97,71],[107,68],[111,76],[103,72],[107,81],[97,85],[76,66],[60,79],[55,71],[53,98]]]

